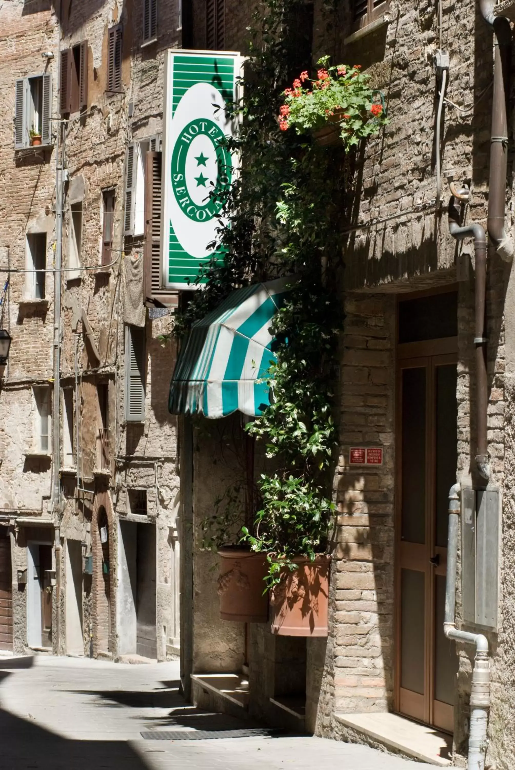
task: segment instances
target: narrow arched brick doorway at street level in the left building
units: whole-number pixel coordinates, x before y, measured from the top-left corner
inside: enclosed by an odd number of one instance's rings
[[[92,516],[93,654],[115,652],[115,544],[112,505],[107,492],[96,495]]]

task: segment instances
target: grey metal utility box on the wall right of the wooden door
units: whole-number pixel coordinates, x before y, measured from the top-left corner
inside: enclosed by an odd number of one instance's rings
[[[500,494],[464,488],[461,510],[463,621],[497,630]]]

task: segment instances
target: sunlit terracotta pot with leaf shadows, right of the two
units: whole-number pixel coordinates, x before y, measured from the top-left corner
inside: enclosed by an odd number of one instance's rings
[[[315,561],[293,559],[296,570],[285,570],[270,596],[272,633],[281,636],[327,636],[329,556]]]

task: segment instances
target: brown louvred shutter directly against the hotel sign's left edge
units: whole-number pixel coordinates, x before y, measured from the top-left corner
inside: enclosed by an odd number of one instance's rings
[[[146,153],[143,300],[161,290],[161,162],[161,152]]]

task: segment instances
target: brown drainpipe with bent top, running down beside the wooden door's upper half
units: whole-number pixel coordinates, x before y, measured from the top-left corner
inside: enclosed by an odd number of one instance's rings
[[[477,420],[477,470],[486,481],[490,478],[488,462],[487,417],[488,417],[488,380],[487,380],[487,333],[485,306],[487,294],[487,237],[483,227],[477,223],[460,227],[454,199],[449,203],[449,232],[457,240],[474,239],[476,261],[476,324],[474,345],[476,346],[476,420]]]

